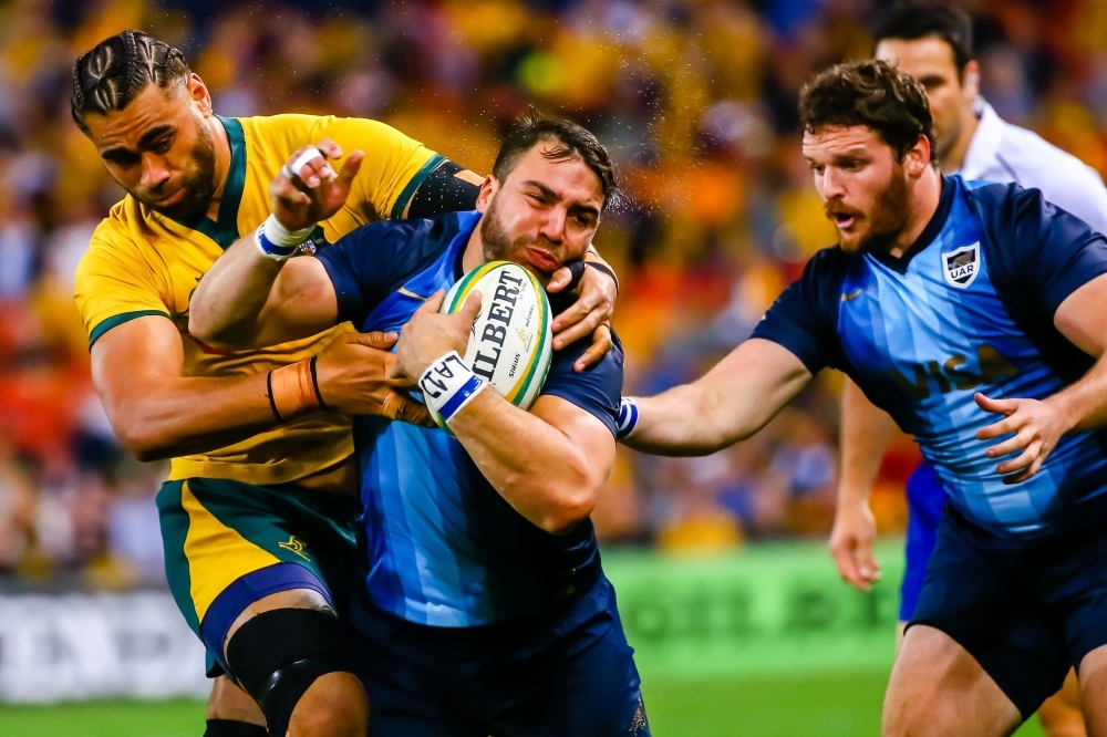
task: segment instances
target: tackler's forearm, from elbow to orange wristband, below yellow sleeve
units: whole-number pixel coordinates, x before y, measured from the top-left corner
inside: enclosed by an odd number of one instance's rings
[[[158,378],[125,397],[107,390],[101,397],[116,435],[139,460],[206,453],[279,424],[265,374]]]

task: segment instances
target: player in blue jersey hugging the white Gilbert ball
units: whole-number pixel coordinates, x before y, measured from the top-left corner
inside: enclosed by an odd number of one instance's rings
[[[583,258],[613,190],[592,134],[526,116],[507,134],[476,211],[376,222],[279,267],[263,239],[260,250],[236,246],[197,288],[189,326],[228,347],[346,320],[362,332],[400,332],[390,375],[403,391],[465,353],[479,298],[439,314],[444,290],[500,259],[546,283]],[[435,405],[454,437],[354,417],[366,557],[352,620],[371,735],[649,735],[589,519],[614,464],[622,350],[615,339],[597,365],[575,371],[587,347],[555,352],[530,412],[482,391],[455,362],[448,392],[458,401]]]

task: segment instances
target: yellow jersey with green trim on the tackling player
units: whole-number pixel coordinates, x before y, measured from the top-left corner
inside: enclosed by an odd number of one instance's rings
[[[163,315],[180,332],[185,376],[268,373],[314,355],[352,326],[344,323],[314,338],[267,349],[220,351],[188,334],[193,290],[226,248],[269,216],[269,183],[300,147],[330,138],[345,154],[365,152],[345,206],[321,224],[331,242],[366,222],[403,215],[418,185],[443,160],[418,142],[375,121],[312,115],[220,121],[230,142],[231,163],[218,220],[205,218],[186,226],[128,195],[93,233],[76,272],[76,302],[90,346],[128,320]],[[226,448],[174,458],[169,478],[283,484],[332,466],[352,453],[350,421],[340,415],[317,415]]]

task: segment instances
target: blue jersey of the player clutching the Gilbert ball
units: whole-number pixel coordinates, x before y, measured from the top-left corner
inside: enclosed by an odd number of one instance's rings
[[[339,320],[364,332],[399,331],[426,298],[462,277],[477,212],[384,220],[319,258],[338,294]],[[555,313],[558,300],[551,300]],[[577,373],[581,341],[554,353],[542,395],[561,397],[615,429],[622,349]],[[407,621],[474,626],[534,613],[588,589],[600,559],[590,520],[554,536],[532,525],[484,478],[462,444],[438,428],[354,417],[373,603]]]

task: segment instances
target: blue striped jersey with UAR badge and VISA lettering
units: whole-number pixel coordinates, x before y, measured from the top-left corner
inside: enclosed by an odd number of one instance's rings
[[[1037,189],[945,177],[938,211],[901,258],[819,251],[754,336],[813,374],[849,374],[915,436],[964,517],[1033,537],[1107,512],[1107,433],[1066,435],[1036,476],[1004,485],[984,455],[999,440],[975,438],[1001,417],[973,394],[1044,399],[1079,378],[1094,361],[1053,318],[1105,272],[1104,236]]]

